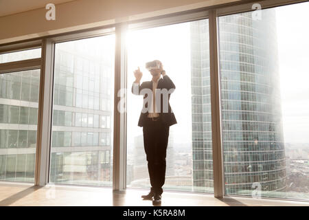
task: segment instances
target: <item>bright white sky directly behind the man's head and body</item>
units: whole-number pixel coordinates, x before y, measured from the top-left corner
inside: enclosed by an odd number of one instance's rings
[[[174,143],[192,144],[191,128],[191,63],[190,63],[190,23],[149,28],[128,33],[128,89],[135,80],[133,71],[140,67],[143,72],[141,82],[151,80],[150,72],[145,69],[148,61],[159,60],[170,76],[176,89],[171,94],[170,105],[177,124],[170,127],[175,135]],[[129,90],[130,91],[130,90]],[[143,104],[142,96],[128,92],[128,147],[134,137],[142,135],[137,126]],[[190,126],[189,126],[190,125]],[[132,145],[131,145],[132,146]]]

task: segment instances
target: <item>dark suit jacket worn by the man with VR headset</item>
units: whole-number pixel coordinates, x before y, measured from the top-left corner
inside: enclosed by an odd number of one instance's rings
[[[132,93],[134,93],[133,91],[133,87],[134,87],[134,83],[132,85]],[[175,89],[175,85],[172,82],[172,80],[170,79],[170,77],[168,77],[167,75],[163,76],[163,78],[160,78],[158,81],[158,85],[157,85],[157,89],[168,89],[168,91],[170,89]],[[138,88],[138,94],[136,93],[135,95],[144,95],[144,99],[147,98],[148,94],[141,94],[141,90],[142,89],[150,89],[152,91],[152,81],[146,81],[141,83],[141,85],[139,85]],[[152,97],[151,97],[152,100]],[[148,103],[146,102],[145,107],[148,107]],[[170,107],[170,94],[168,94],[168,112],[164,113],[163,112],[163,94],[161,94],[161,111],[159,113],[160,118],[163,122],[163,124],[166,124],[168,126],[171,126],[173,124],[176,124],[176,118],[174,113],[172,112],[172,108]],[[137,124],[138,126],[144,126],[145,122],[147,120],[147,116],[148,116],[148,112],[143,113],[141,112],[141,115],[139,116],[139,123]]]

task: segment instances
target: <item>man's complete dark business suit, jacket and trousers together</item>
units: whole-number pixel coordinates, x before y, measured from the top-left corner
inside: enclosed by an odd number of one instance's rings
[[[133,89],[132,93],[135,95],[141,94],[142,89],[150,89],[152,91],[152,81],[141,83],[138,88]],[[167,75],[160,78],[157,89],[175,89],[175,85]],[[144,94],[144,99],[148,94]],[[148,161],[148,173],[150,176],[150,184],[152,192],[159,195],[162,194],[162,186],[165,182],[166,170],[166,149],[168,147],[168,135],[170,133],[170,126],[176,124],[176,118],[170,107],[170,93],[168,94],[168,112],[163,112],[163,94],[161,96],[161,111],[159,112],[159,120],[153,121],[148,118],[148,112],[141,112],[139,116],[138,126],[143,127],[144,133],[144,149]],[[157,100],[158,97],[156,97]],[[152,97],[150,98],[152,102]],[[145,104],[148,107],[148,103]]]

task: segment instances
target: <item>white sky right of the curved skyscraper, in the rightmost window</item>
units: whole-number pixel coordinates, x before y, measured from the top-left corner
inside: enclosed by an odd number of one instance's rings
[[[309,2],[276,8],[284,141],[309,143]]]

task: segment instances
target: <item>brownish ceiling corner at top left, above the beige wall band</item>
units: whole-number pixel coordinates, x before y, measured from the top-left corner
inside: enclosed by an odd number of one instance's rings
[[[54,3],[56,5],[67,1],[74,0],[0,0],[0,17],[45,8],[47,3]]]

